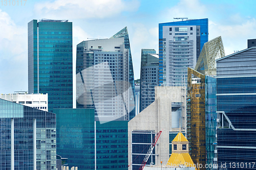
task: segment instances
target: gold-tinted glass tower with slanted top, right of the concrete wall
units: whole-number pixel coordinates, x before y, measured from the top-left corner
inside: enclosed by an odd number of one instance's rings
[[[187,101],[190,105],[187,110],[189,122],[187,125],[187,136],[190,143],[190,155],[195,164],[202,164],[204,167],[206,162],[205,76],[191,68],[188,68],[187,74]],[[192,75],[194,75],[194,78],[192,78]]]

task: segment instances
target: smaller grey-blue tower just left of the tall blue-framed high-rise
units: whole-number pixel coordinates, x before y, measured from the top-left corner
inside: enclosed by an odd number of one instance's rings
[[[141,49],[140,112],[155,101],[158,86],[159,56],[154,49]]]

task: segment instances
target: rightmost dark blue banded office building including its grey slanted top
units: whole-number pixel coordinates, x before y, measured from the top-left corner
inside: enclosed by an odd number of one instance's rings
[[[256,47],[216,62],[219,168],[225,163],[226,169],[255,168]]]

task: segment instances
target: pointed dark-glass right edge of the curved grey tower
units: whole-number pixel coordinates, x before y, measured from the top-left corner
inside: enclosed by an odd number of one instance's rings
[[[127,27],[123,28],[121,31],[119,31],[118,33],[116,33],[115,35],[113,35],[110,38],[120,38],[120,37],[124,37],[124,47],[126,49],[129,49],[129,82],[131,83],[132,89],[133,89],[133,99],[131,99],[131,100],[135,101],[135,85],[134,85],[134,73],[133,73],[133,59],[132,59],[130,40],[129,40],[129,34],[128,34]],[[133,117],[135,117],[135,114],[136,114],[136,111],[135,111],[135,108],[134,108],[133,111],[130,112],[130,120]]]

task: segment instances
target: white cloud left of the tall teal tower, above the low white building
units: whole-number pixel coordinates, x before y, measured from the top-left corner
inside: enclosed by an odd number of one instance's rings
[[[1,93],[28,89],[27,39],[27,28],[16,26],[8,13],[0,10]]]

